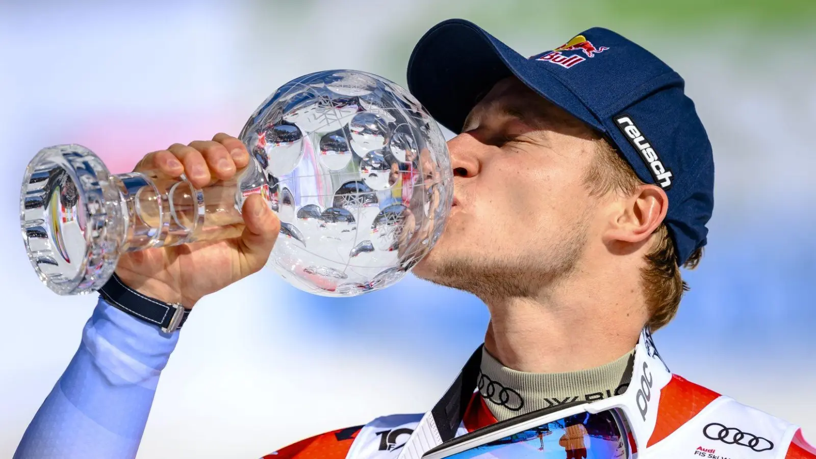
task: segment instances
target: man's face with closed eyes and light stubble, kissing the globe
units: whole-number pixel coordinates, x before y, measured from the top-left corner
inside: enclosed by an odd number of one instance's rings
[[[516,78],[497,83],[448,142],[454,207],[414,273],[482,297],[533,295],[568,274],[591,233],[596,139]]]

